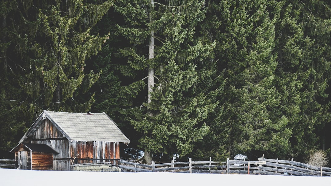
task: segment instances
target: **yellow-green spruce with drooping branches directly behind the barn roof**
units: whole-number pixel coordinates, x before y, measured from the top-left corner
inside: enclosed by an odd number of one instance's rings
[[[40,110],[88,111],[94,98],[84,97],[99,73],[84,70],[108,35],[90,35],[112,1],[15,1],[8,29],[13,63],[18,69],[29,113]]]

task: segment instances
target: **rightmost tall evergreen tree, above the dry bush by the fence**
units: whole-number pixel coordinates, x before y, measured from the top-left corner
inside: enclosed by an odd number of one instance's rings
[[[279,110],[293,129],[293,157],[302,158],[318,147],[318,132],[330,121],[326,94],[330,80],[330,16],[330,2],[282,2],[276,25],[276,88],[281,95]]]

